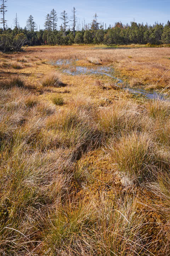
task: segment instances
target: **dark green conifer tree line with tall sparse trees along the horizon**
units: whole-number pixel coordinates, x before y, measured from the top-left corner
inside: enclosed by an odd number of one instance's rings
[[[18,16],[14,18],[14,28],[7,27],[5,14],[7,11],[7,0],[0,0],[0,42],[13,38],[22,38],[24,44],[33,45],[71,45],[71,44],[106,44],[108,46],[117,44],[170,44],[170,22],[166,25],[155,23],[154,25],[144,25],[143,23],[131,22],[123,25],[116,22],[114,26],[106,27],[97,20],[94,15],[91,23],[85,20],[80,24],[77,19],[76,9],[73,7],[72,16],[69,18],[64,10],[58,17],[55,9],[52,9],[45,17],[44,29],[39,29],[32,15],[27,19],[26,26],[19,26]],[[58,28],[58,18],[61,25]],[[70,25],[69,25],[70,24]],[[5,39],[4,39],[5,38]],[[1,45],[1,44],[0,44]],[[6,44],[7,45],[7,44]]]

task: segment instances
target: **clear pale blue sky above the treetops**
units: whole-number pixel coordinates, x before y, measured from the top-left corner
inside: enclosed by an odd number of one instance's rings
[[[17,12],[19,25],[26,25],[26,20],[31,14],[34,21],[38,24],[38,28],[44,28],[44,20],[47,13],[51,9],[57,11],[60,17],[60,12],[67,11],[70,17],[72,7],[77,8],[77,16],[80,22],[84,20],[90,23],[95,12],[98,15],[98,22],[104,22],[114,25],[116,21],[121,21],[123,24],[136,21],[153,24],[155,21],[166,23],[170,20],[170,0],[8,0],[8,12],[6,12],[6,20],[9,27],[13,27],[13,19]],[[58,19],[58,25],[61,25],[61,20]]]

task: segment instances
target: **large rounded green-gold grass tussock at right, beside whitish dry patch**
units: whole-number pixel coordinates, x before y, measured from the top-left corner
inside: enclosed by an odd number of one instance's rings
[[[119,171],[134,182],[140,183],[154,178],[158,169],[163,167],[162,157],[146,133],[125,136],[111,146],[110,150]],[[164,161],[163,165],[165,166]],[[169,169],[168,163],[166,167]]]

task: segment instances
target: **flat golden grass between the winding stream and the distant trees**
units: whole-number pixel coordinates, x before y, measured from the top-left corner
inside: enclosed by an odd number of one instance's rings
[[[168,47],[95,49],[88,46],[67,46],[31,49],[35,51],[41,49],[42,58],[48,54],[47,58],[51,60],[83,59],[84,61],[87,60],[88,63],[91,59],[94,60],[94,62],[92,61],[94,64],[99,63],[99,60],[102,64],[112,63],[121,75],[126,76],[126,78],[138,79],[145,88],[149,89],[151,85],[154,89],[160,89],[167,86],[170,81],[169,58],[167,58],[170,55],[170,49]]]

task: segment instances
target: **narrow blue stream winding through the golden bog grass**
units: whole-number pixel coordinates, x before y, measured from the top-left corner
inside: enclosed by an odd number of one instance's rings
[[[76,60],[75,60],[76,61]],[[167,96],[165,94],[157,94],[155,91],[146,91],[143,89],[133,89],[132,87],[126,85],[123,80],[118,79],[114,76],[114,69],[107,66],[98,66],[97,68],[91,68],[91,67],[83,67],[83,66],[77,66],[75,64],[75,61],[73,60],[57,60],[56,62],[51,62],[52,65],[55,66],[62,66],[62,72],[69,74],[69,75],[106,75],[115,80],[115,86],[127,90],[131,92],[134,95],[144,96],[147,99],[152,100],[167,100]]]

